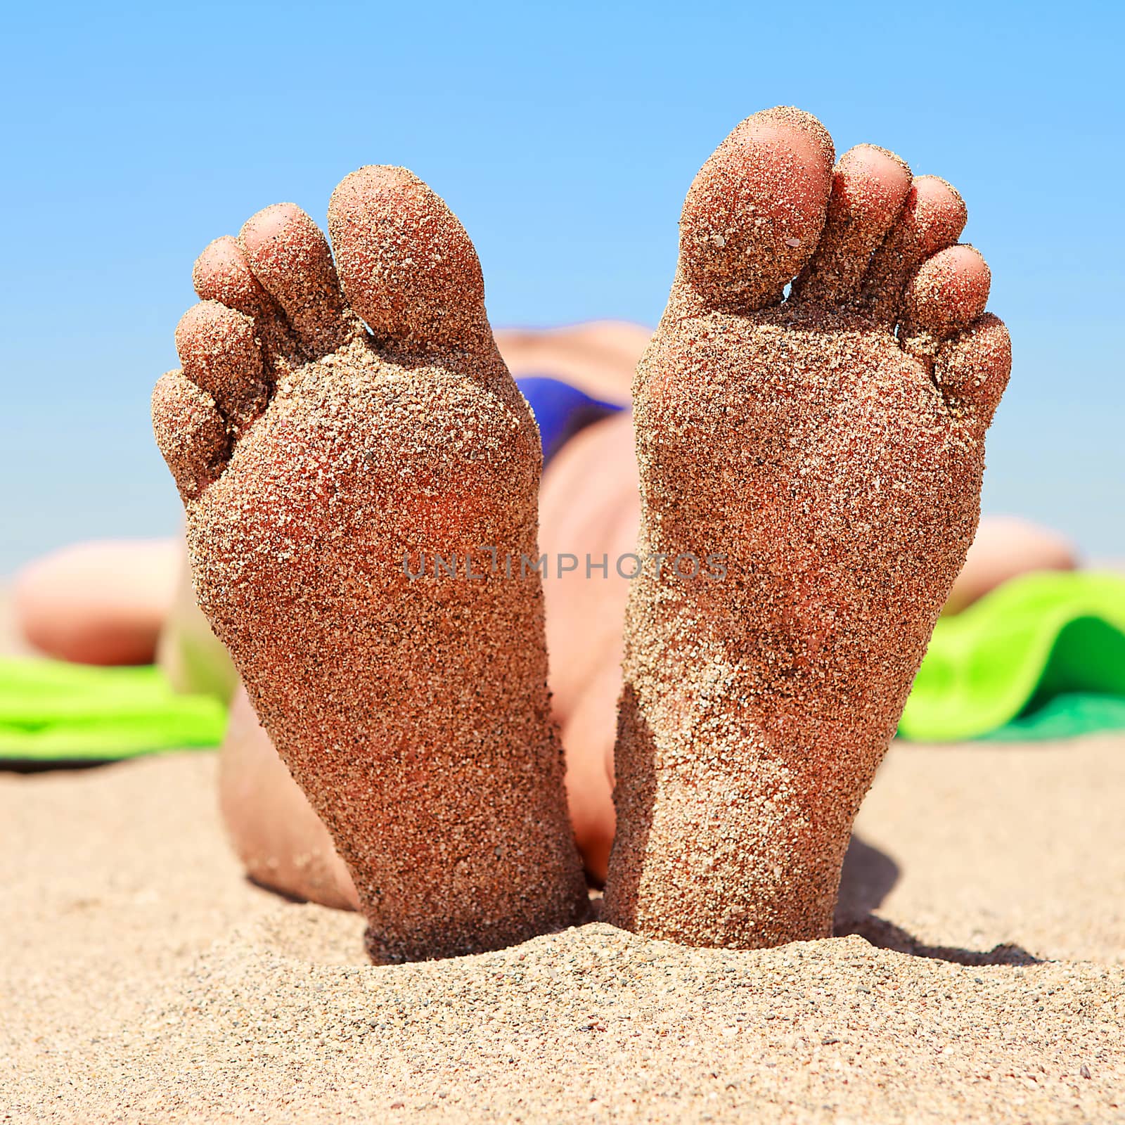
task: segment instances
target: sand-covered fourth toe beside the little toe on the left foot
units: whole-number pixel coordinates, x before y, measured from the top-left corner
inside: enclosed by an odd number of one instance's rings
[[[210,395],[236,431],[261,414],[268,390],[250,316],[200,302],[176,326],[176,350],[183,375]]]

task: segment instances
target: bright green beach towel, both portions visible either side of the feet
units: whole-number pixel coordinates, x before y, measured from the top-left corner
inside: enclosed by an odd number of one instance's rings
[[[215,747],[226,709],[155,667],[0,659],[0,760],[80,763]],[[915,741],[1125,729],[1125,578],[1034,574],[942,618],[899,734]]]

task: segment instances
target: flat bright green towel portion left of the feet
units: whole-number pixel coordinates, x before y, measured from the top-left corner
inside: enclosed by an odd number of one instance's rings
[[[180,695],[156,667],[0,659],[0,759],[101,762],[214,747],[226,709]]]

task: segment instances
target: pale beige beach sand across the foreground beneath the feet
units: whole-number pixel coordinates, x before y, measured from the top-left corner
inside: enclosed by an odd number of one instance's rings
[[[0,775],[3,1119],[1125,1119],[1119,737],[896,745],[847,936],[594,922],[387,968],[359,916],[242,879],[215,771]]]

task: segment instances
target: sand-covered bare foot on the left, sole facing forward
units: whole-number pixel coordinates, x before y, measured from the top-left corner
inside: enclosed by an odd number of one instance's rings
[[[330,227],[336,264],[294,205],[208,248],[153,424],[200,608],[372,955],[497,948],[585,911],[541,583],[487,552],[538,558],[539,434],[476,252],[422,181],[356,172]]]

